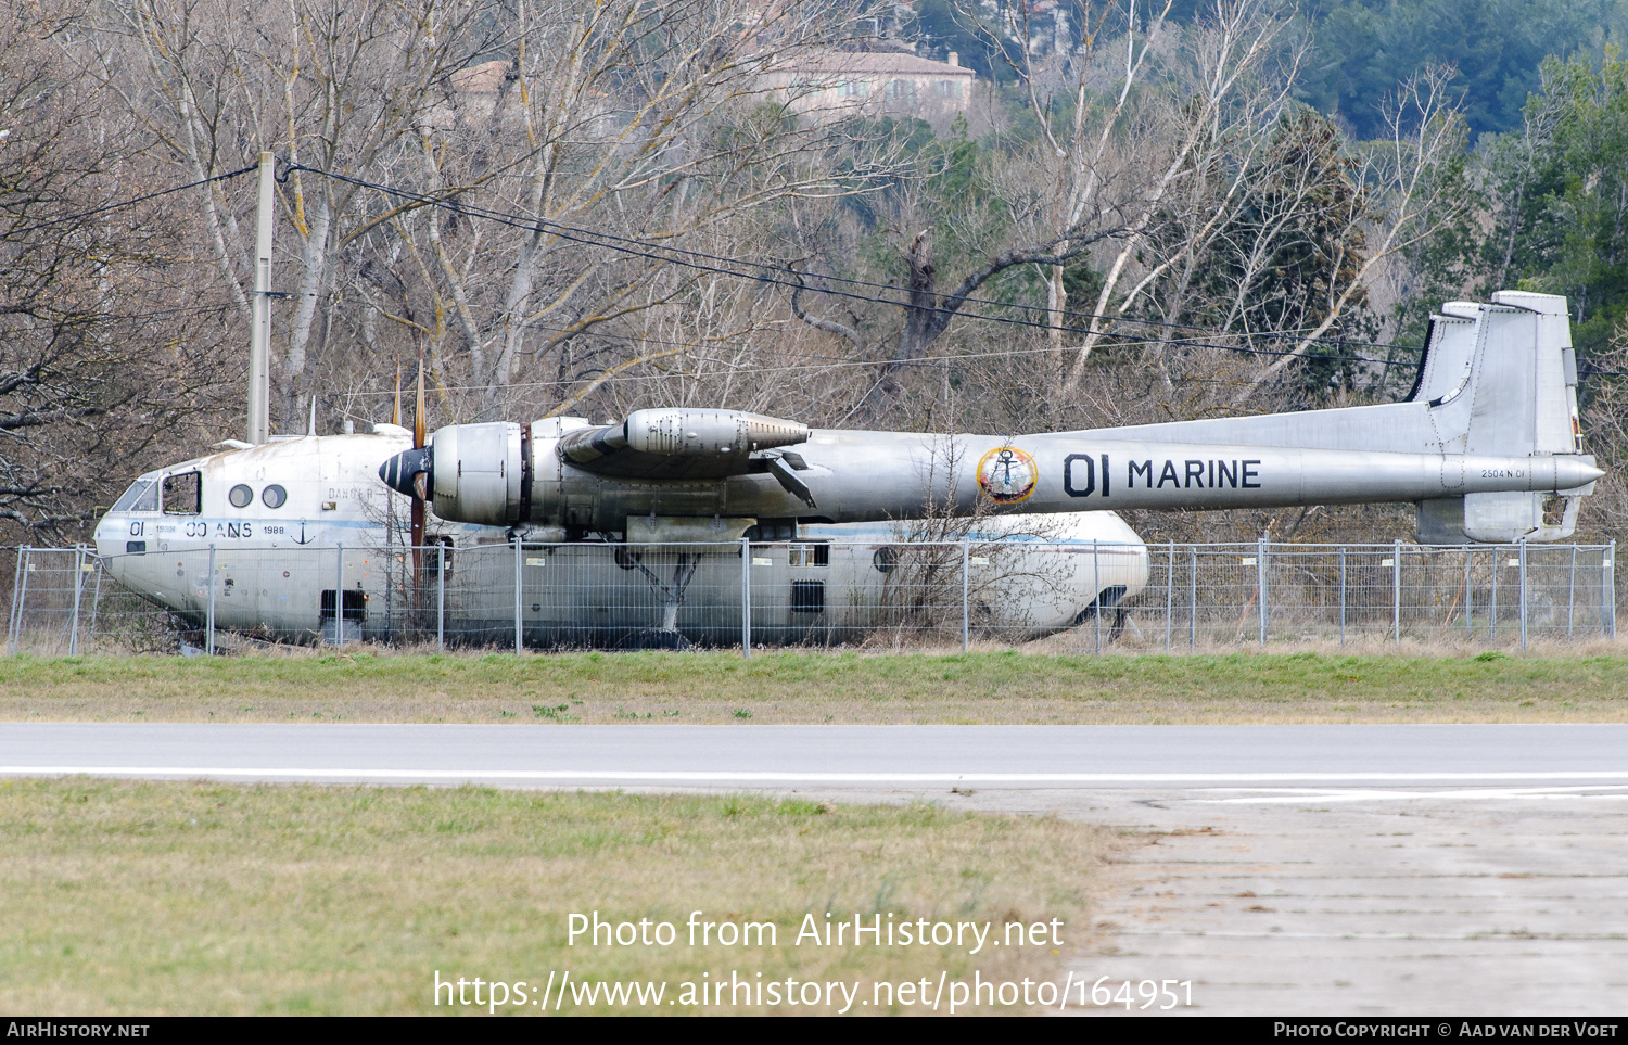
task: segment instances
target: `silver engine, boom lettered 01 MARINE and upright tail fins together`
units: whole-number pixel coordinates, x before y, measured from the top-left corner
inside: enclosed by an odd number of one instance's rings
[[[620,532],[630,516],[646,514],[864,522],[990,508],[1415,501],[1424,539],[1555,540],[1571,534],[1576,498],[1604,474],[1581,454],[1565,306],[1565,298],[1519,291],[1498,293],[1491,304],[1444,306],[1410,399],[1374,407],[1014,438],[812,430],[746,461],[739,438],[713,439],[718,446],[692,439],[671,451],[666,472],[627,431],[682,410],[645,410],[637,425],[628,418],[597,428],[580,418],[537,422],[529,439],[508,439],[505,461],[472,453],[459,435],[466,426],[443,428],[430,464],[436,495],[444,490],[448,500],[436,509],[469,522],[519,518]],[[755,425],[793,438],[798,430],[760,415],[697,413],[707,415],[698,426],[721,433]],[[1006,462],[1000,488],[980,472],[991,454]],[[1013,467],[1022,470],[1021,487],[1009,485]],[[529,475],[523,496],[498,505],[462,492],[459,477],[501,469]]]

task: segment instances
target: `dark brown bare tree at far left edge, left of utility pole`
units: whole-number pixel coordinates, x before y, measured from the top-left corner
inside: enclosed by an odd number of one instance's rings
[[[156,203],[127,203],[155,186],[59,46],[75,16],[0,8],[0,522],[28,539],[78,537],[130,454],[220,438],[220,308],[166,277]]]

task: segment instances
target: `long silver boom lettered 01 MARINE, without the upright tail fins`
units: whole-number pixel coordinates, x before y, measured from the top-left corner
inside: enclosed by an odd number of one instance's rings
[[[444,430],[443,430],[444,431]],[[470,474],[469,459],[443,456],[436,433],[436,488],[443,469]],[[1115,508],[1283,508],[1421,501],[1468,493],[1566,492],[1602,475],[1578,456],[1491,457],[1403,454],[1356,449],[1131,443],[1102,436],[961,435],[814,430],[798,446],[807,469],[798,479],[814,501],[786,490],[770,472],[711,482],[630,482],[586,472],[532,439],[532,495],[526,519],[540,526],[622,531],[628,516],[804,518],[873,522],[918,518],[934,509],[974,514],[980,493],[962,462],[1014,448],[1039,466],[1034,492],[1014,509],[1057,513]],[[505,462],[518,470],[516,456]],[[462,501],[461,501],[462,503]],[[459,516],[497,524],[519,501],[493,503],[485,514]],[[438,511],[446,511],[436,503]],[[995,508],[1000,511],[1001,508]]]

